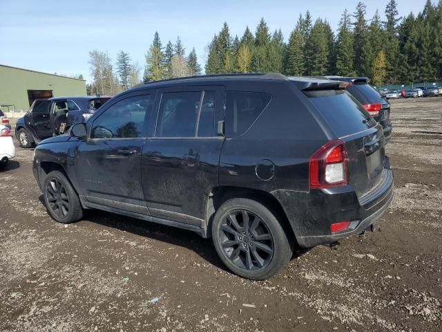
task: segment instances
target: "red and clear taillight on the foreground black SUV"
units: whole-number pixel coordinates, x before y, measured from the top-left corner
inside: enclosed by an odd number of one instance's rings
[[[342,140],[333,140],[310,157],[311,188],[347,185],[347,149]]]

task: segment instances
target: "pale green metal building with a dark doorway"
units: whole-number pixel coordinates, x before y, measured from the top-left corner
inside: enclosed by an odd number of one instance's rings
[[[86,95],[86,80],[0,64],[0,107],[3,112],[26,112],[35,99],[62,95]]]

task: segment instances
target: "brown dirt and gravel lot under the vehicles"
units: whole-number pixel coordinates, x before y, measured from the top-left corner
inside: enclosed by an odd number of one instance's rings
[[[18,148],[0,173],[0,331],[442,331],[442,98],[393,101],[392,119],[376,232],[298,252],[267,282],[192,232],[97,211],[55,223]]]

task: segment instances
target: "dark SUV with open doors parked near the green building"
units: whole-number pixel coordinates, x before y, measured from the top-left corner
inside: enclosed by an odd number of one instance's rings
[[[31,147],[45,138],[66,133],[73,124],[84,122],[109,96],[57,97],[35,100],[17,120],[15,136],[21,147]]]

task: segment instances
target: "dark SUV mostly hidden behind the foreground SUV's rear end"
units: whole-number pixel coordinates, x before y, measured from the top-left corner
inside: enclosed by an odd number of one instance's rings
[[[392,138],[392,122],[390,120],[390,102],[369,84],[367,77],[325,76],[329,80],[349,82],[347,91],[361,102],[368,113],[382,125],[385,142]]]

